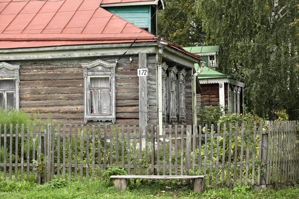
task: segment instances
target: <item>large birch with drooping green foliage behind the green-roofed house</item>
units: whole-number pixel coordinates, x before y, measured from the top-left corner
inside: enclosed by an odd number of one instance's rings
[[[207,44],[223,48],[222,72],[246,83],[248,106],[273,119],[287,109],[299,119],[296,0],[198,0]]]

